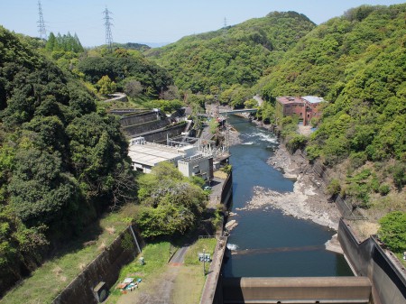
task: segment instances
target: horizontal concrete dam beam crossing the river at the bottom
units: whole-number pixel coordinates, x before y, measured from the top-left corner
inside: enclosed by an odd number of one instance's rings
[[[364,277],[227,278],[224,303],[369,303]]]

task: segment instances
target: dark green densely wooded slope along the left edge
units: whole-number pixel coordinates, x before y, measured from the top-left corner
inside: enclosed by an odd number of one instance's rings
[[[0,27],[0,295],[131,180],[117,119],[23,40]]]

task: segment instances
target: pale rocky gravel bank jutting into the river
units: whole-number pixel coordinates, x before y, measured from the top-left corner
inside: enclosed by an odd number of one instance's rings
[[[255,122],[258,126],[267,125]],[[300,152],[291,155],[283,144],[280,144],[268,164],[281,170],[284,177],[296,180],[292,192],[277,192],[261,187],[254,188],[254,196],[244,209],[264,209],[274,207],[281,209],[285,215],[311,220],[318,225],[337,230],[340,218],[339,211],[333,202],[328,201],[324,186],[313,172],[309,162]],[[236,209],[238,211],[238,209]]]

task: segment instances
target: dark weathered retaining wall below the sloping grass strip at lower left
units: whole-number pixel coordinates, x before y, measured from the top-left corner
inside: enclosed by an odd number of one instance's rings
[[[140,242],[141,237],[134,229],[137,240]],[[97,299],[94,294],[94,288],[101,281],[106,282],[106,290],[109,290],[115,282],[118,280],[118,274],[121,268],[126,264],[134,260],[134,257],[138,253],[137,246],[134,244],[134,248],[125,249],[122,245],[122,241],[125,235],[131,235],[130,228],[127,227],[125,232],[118,235],[115,241],[108,246],[103,253],[97,256],[97,258],[88,267],[81,272],[76,279],[70,282],[68,287],[60,292],[59,296],[53,300],[55,304],[78,304],[97,303]],[[134,238],[131,235],[131,239],[134,242]],[[142,244],[140,244],[142,246]]]

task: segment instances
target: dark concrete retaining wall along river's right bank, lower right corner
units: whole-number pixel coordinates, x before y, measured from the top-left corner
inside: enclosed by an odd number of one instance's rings
[[[368,277],[373,283],[374,304],[406,303],[406,272],[404,267],[386,254],[374,236],[359,241],[351,226],[341,220],[338,240],[356,274]]]

